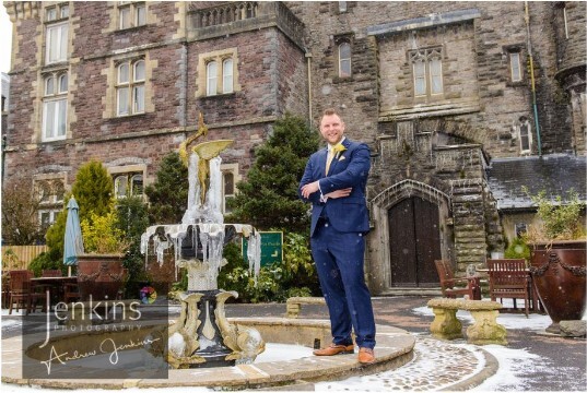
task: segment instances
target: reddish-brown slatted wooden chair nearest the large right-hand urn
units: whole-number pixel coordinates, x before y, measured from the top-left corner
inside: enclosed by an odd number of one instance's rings
[[[491,300],[500,298],[514,299],[514,310],[517,310],[516,299],[524,299],[526,318],[530,303],[530,275],[524,259],[489,259],[488,260]]]

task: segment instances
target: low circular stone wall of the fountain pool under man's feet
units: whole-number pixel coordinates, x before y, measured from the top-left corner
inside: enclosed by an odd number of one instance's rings
[[[314,347],[330,342],[327,320],[286,318],[228,318],[231,323],[258,330],[268,343]],[[22,377],[22,337],[2,341],[2,382],[54,389],[125,389],[125,388],[271,388],[303,382],[347,379],[352,376],[399,368],[413,357],[415,337],[401,329],[377,325],[374,364],[359,364],[355,355],[333,357],[308,356],[295,360],[237,365],[204,369],[168,370],[162,379],[27,379]],[[43,337],[39,336],[39,342]],[[27,355],[24,355],[27,356]]]

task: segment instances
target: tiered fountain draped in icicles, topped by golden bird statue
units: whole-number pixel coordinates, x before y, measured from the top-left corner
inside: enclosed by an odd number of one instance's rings
[[[236,236],[247,238],[249,269],[257,275],[260,234],[250,225],[224,224],[220,153],[233,141],[200,143],[188,156],[188,146],[207,133],[200,114],[198,132],[179,146],[189,177],[188,206],[181,224],[154,225],[141,237],[143,254],[151,249],[162,264],[165,250],[173,247],[176,271],[187,270],[187,291],[174,294],[181,311],[168,330],[166,357],[176,369],[249,364],[265,349],[257,330],[231,324],[224,313],[224,302],[238,296],[218,288],[219,272],[226,264],[224,246]]]

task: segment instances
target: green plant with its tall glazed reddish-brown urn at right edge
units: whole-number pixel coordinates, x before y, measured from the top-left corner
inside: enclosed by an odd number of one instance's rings
[[[552,319],[547,332],[560,333],[559,322],[580,320],[585,312],[585,204],[574,190],[567,192],[566,201],[561,195],[548,199],[544,191],[530,198],[540,219],[526,234],[530,274]]]

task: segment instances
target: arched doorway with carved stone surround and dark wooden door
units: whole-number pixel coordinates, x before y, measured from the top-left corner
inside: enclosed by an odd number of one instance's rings
[[[430,294],[439,287],[435,259],[450,259],[451,214],[448,195],[414,180],[403,180],[371,203],[374,228],[368,237],[367,281],[374,294]]]

